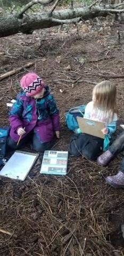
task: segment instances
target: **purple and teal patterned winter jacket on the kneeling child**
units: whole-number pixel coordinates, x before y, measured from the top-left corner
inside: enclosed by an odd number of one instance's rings
[[[37,100],[27,97],[24,92],[18,94],[9,112],[10,136],[15,142],[19,140],[17,133],[19,127],[25,127],[26,133],[22,135],[22,138],[33,130],[41,142],[51,141],[55,131],[60,131],[60,117],[56,101],[49,93],[48,86],[45,89],[44,97]]]

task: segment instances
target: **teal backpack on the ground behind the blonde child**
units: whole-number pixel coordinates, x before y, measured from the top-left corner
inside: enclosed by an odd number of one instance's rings
[[[75,108],[70,108],[67,113],[65,113],[65,122],[68,129],[76,132],[79,128],[77,122],[77,116],[84,117],[86,105],[81,105]]]

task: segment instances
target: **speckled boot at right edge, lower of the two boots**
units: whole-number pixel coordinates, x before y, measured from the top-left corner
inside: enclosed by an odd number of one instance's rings
[[[105,180],[114,188],[124,188],[124,173],[121,171],[114,176],[108,176]]]

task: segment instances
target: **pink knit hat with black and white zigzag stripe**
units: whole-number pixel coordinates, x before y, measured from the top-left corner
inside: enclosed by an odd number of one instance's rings
[[[27,73],[21,78],[20,85],[26,96],[34,96],[43,90],[45,83],[36,73]]]

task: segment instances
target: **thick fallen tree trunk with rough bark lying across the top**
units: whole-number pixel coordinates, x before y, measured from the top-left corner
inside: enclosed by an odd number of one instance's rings
[[[114,5],[106,5],[104,9],[102,6],[93,6],[92,8],[77,7],[74,9],[54,11],[52,16],[48,12],[24,14],[22,18],[18,18],[18,15],[8,15],[7,17],[0,17],[0,37],[10,36],[16,33],[30,34],[35,29],[44,29],[59,26],[63,23],[77,22],[95,17],[106,17],[110,13],[122,12],[124,12],[124,9],[118,10],[117,8],[114,9]]]

